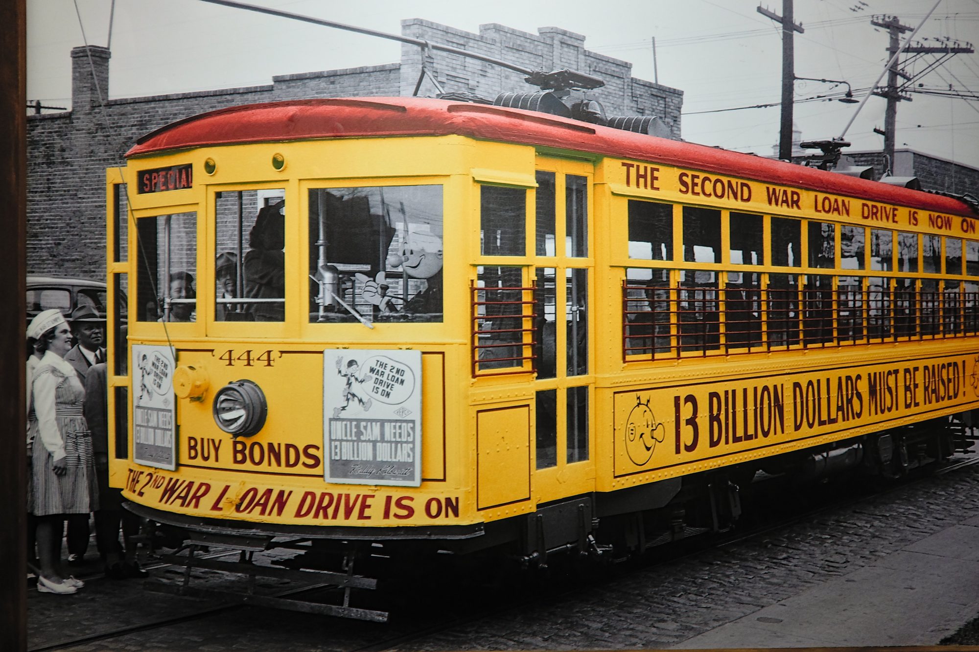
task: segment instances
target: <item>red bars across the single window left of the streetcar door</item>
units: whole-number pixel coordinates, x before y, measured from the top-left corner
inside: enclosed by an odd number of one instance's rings
[[[536,282],[530,287],[501,288],[470,283],[469,291],[473,378],[536,373]],[[530,301],[524,299],[527,293]],[[525,333],[530,333],[529,340]],[[528,360],[531,368],[525,369]]]

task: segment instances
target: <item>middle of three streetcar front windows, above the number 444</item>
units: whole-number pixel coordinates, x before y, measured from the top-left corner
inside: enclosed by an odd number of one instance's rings
[[[286,318],[285,190],[214,198],[215,321]]]

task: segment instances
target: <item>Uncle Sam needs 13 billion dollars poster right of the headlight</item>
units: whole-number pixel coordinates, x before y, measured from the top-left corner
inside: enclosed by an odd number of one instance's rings
[[[326,481],[418,487],[421,408],[421,351],[325,349]]]

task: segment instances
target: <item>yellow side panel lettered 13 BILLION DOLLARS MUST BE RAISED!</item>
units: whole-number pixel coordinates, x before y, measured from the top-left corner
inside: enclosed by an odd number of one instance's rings
[[[979,358],[943,354],[942,349],[874,361],[837,354],[836,364],[826,354],[816,371],[812,358],[786,353],[779,372],[717,373],[700,380],[677,374],[657,378],[655,384],[619,388],[613,393],[609,488],[968,409],[979,400]]]

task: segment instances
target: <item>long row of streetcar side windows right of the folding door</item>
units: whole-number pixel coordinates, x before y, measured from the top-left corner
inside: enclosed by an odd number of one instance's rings
[[[971,240],[630,200],[629,257],[627,360],[979,333]]]

